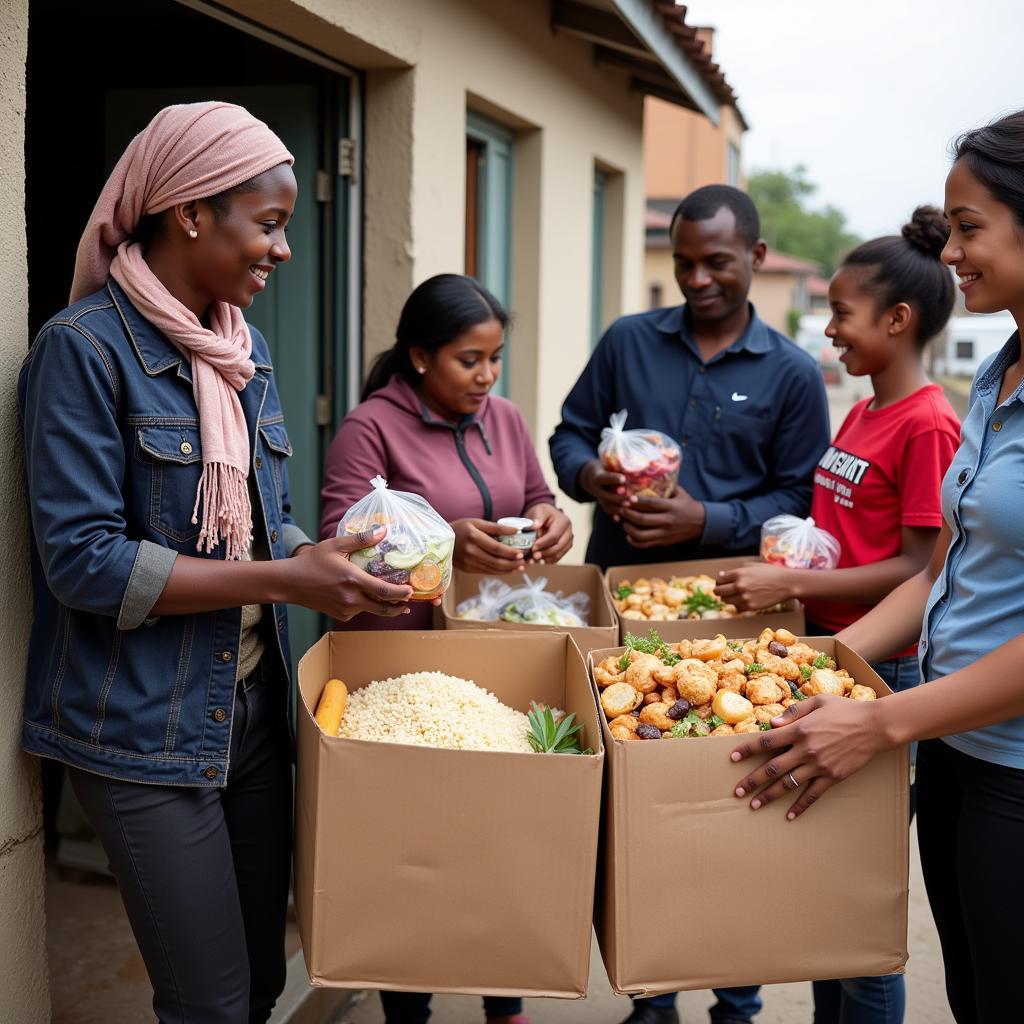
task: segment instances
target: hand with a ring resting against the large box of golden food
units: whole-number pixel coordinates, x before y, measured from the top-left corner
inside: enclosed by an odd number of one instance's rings
[[[772,719],[770,732],[755,733],[733,750],[733,761],[775,754],[739,782],[735,796],[754,795],[751,807],[756,811],[802,787],[786,814],[791,821],[800,817],[823,793],[886,749],[881,705],[822,695],[791,705]]]

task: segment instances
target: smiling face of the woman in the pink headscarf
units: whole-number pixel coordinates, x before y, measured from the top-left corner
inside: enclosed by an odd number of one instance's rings
[[[198,236],[185,248],[194,287],[210,301],[251,306],[273,268],[292,256],[285,226],[296,196],[291,167],[279,164],[219,203],[181,207]]]

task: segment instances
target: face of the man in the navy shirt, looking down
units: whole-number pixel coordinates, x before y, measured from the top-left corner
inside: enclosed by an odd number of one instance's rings
[[[746,306],[751,279],[764,257],[764,243],[741,238],[727,206],[706,220],[678,217],[672,230],[676,284],[698,324],[726,319]]]

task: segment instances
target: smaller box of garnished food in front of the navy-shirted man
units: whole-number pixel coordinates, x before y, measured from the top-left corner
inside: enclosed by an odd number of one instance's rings
[[[653,626],[670,643],[712,637],[748,637],[766,626],[804,632],[804,606],[786,601],[755,614],[737,613],[715,596],[715,581],[723,569],[755,561],[753,555],[702,558],[689,562],[613,565],[604,573],[608,596],[618,621],[620,642],[626,634],[646,634]]]

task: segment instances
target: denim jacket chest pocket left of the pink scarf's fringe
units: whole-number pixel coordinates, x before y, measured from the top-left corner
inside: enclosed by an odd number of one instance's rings
[[[203,473],[199,427],[147,424],[136,432],[136,458],[150,469],[150,526],[183,544],[199,537],[193,509]]]

